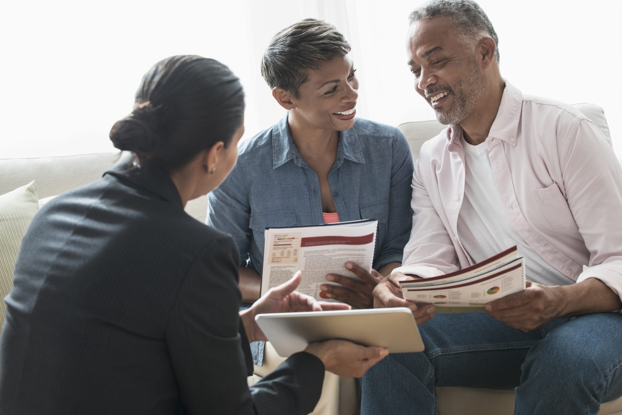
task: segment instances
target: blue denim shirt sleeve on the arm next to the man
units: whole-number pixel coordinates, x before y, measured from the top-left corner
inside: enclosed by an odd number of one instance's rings
[[[392,145],[391,188],[386,242],[378,250],[376,270],[391,262],[401,262],[411,234],[412,155],[406,137],[397,131]]]

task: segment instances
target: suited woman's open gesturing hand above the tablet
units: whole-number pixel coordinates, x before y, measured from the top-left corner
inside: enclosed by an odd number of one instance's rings
[[[302,278],[302,276],[300,275],[300,271],[298,271],[291,280],[271,288],[266,295],[255,301],[251,308],[239,312],[249,342],[257,342],[260,340],[264,342],[267,341],[266,335],[264,335],[255,322],[255,316],[257,314],[350,309],[348,304],[317,301],[307,294],[301,294],[295,291],[300,284],[300,278]]]

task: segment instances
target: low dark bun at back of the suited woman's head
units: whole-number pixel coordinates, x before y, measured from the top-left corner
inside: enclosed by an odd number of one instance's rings
[[[119,150],[151,158],[160,141],[154,107],[149,101],[134,104],[129,116],[114,123],[109,137]]]

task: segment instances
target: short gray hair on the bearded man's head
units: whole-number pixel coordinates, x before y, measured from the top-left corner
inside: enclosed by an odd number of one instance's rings
[[[432,0],[411,12],[411,24],[432,17],[452,17],[456,24],[456,34],[461,43],[475,46],[483,36],[493,38],[495,43],[494,57],[499,63],[499,38],[494,31],[493,24],[481,9],[480,5],[472,0]]]

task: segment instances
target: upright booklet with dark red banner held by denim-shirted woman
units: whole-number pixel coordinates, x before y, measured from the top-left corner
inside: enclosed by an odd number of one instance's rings
[[[350,261],[371,271],[376,227],[373,219],[299,227],[267,227],[264,243],[264,268],[261,275],[261,296],[277,285],[302,272],[296,291],[322,299],[321,284],[327,274],[358,277],[345,268]]]

